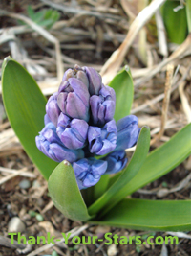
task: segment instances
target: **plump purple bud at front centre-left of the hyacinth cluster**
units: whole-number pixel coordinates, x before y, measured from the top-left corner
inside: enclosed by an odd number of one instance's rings
[[[72,120],[61,113],[58,118],[56,132],[64,146],[68,149],[77,150],[85,146],[88,127],[86,121],[80,119]]]

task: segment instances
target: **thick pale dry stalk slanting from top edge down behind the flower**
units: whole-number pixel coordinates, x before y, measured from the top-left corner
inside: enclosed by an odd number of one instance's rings
[[[120,68],[122,61],[127,54],[131,44],[138,35],[139,30],[146,24],[146,22],[152,17],[152,15],[159,9],[159,7],[166,0],[153,0],[149,6],[144,8],[138,13],[138,16],[131,24],[128,34],[126,35],[123,43],[119,48],[112,54],[101,69],[101,76],[103,83],[108,83],[117,74],[117,70]]]

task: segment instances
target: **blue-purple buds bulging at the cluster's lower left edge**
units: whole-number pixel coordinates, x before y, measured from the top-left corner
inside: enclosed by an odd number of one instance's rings
[[[56,134],[56,128],[53,123],[48,123],[35,137],[38,150],[42,151],[48,157],[56,162],[68,160],[73,163],[77,159],[84,157],[82,150],[74,151],[64,147]]]

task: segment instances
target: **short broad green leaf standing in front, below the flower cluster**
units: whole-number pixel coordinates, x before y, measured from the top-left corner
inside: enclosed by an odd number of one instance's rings
[[[64,160],[53,170],[48,187],[55,207],[65,217],[74,221],[90,219],[76,183],[74,170],[68,161]]]

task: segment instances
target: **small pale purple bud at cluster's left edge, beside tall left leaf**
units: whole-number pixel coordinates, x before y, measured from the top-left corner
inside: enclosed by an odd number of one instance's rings
[[[47,115],[49,119],[53,122],[53,125],[55,127],[57,126],[57,119],[61,112],[57,105],[57,95],[58,95],[57,92],[53,93],[53,95],[49,98],[49,101],[47,102],[47,105],[46,105]]]

